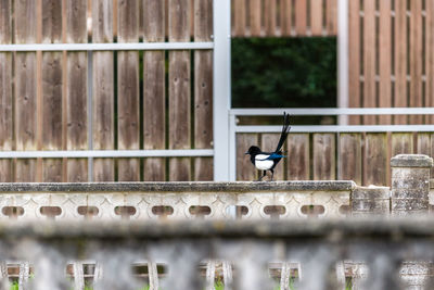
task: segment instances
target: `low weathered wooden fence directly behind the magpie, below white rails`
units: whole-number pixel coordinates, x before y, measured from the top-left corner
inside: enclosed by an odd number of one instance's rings
[[[279,134],[237,135],[237,179],[257,179],[244,152],[251,144],[272,151]],[[315,133],[290,134],[286,159],[277,166],[278,180],[354,180],[358,185],[391,184],[392,156],[401,153],[434,155],[434,135],[430,133]]]

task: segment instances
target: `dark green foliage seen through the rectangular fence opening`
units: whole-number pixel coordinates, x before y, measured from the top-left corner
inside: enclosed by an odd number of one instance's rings
[[[234,108],[336,105],[336,38],[232,39]]]

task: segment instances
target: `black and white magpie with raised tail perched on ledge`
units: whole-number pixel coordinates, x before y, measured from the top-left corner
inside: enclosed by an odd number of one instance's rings
[[[280,134],[280,139],[278,147],[276,148],[275,152],[263,152],[260,148],[257,146],[252,146],[248,148],[248,151],[245,154],[251,155],[251,161],[253,165],[258,171],[263,171],[264,174],[259,177],[258,181],[263,180],[264,176],[266,176],[267,171],[271,172],[271,181],[275,175],[275,167],[278,165],[279,161],[284,157],[282,155],[281,148],[286,140],[288,134],[290,133],[290,115],[283,112],[283,127],[282,133]]]

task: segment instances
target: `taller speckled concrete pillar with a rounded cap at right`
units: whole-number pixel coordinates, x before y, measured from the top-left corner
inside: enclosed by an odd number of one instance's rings
[[[392,215],[429,213],[432,166],[433,159],[427,155],[400,154],[392,159]]]

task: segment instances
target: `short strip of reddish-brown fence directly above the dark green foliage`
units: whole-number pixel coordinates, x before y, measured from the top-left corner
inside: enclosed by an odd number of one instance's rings
[[[233,37],[336,36],[337,0],[233,0]]]

